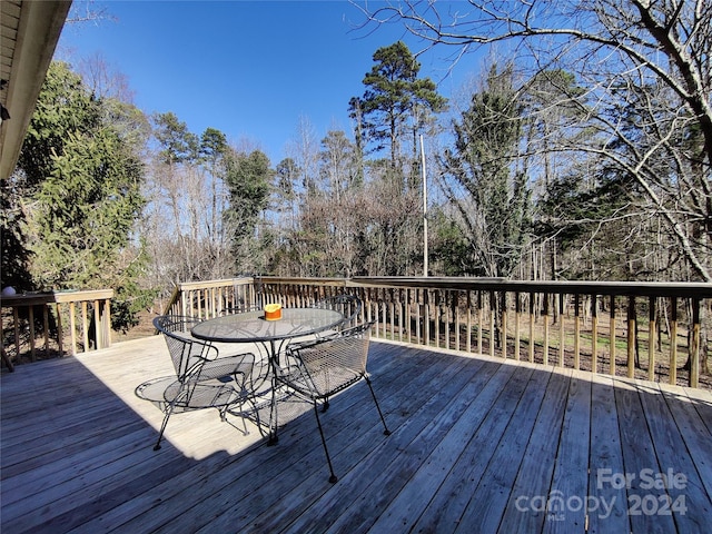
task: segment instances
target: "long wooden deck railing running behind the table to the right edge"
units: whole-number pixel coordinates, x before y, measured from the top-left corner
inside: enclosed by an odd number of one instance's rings
[[[169,312],[306,306],[358,295],[375,337],[692,387],[712,387],[712,284],[482,278],[236,278],[184,284]]]

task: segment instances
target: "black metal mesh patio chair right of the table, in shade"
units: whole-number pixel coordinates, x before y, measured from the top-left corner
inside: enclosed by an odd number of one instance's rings
[[[366,370],[372,326],[373,322],[342,330],[329,338],[291,344],[287,347],[286,365],[277,366],[275,369],[277,384],[283,384],[313,402],[322,445],[329,466],[329,482],[332,483],[337,482],[338,478],[334,473],[324,437],[319,418],[319,402],[323,403],[322,411],[325,412],[329,407],[330,397],[362,379],[366,380],[383,423],[384,435],[390,435]],[[278,403],[275,403],[275,409],[278,409],[277,406]],[[276,441],[276,424],[273,432],[273,439]]]

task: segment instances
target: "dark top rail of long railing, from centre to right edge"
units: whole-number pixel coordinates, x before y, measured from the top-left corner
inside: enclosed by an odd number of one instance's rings
[[[558,281],[506,280],[504,278],[464,277],[355,277],[359,286],[392,286],[520,293],[563,293],[571,295],[615,295],[652,297],[712,298],[712,284],[684,281]]]

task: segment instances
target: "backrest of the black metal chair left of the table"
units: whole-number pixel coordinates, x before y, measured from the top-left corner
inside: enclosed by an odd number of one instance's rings
[[[217,349],[208,343],[196,339],[190,329],[201,319],[180,315],[160,315],[154,326],[164,335],[176,376],[184,379],[207,359],[217,357]]]

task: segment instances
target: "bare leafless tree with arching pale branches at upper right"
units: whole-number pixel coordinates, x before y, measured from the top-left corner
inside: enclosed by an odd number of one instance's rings
[[[531,78],[553,69],[574,72],[587,91],[578,127],[596,135],[548,148],[594,155],[629,177],[637,208],[664,222],[691,277],[712,281],[712,4],[469,0],[446,6],[404,0],[374,9],[365,2],[362,9],[365,24],[404,24],[428,47],[459,47],[466,53],[510,44]]]

